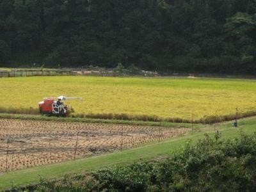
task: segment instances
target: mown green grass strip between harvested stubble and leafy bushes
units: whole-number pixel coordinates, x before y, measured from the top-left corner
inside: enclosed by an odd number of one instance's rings
[[[230,127],[230,123],[222,125],[221,128],[219,128],[222,138],[233,138],[239,134],[240,130],[243,130],[246,132],[246,134],[253,134],[253,132],[256,131],[256,118],[241,120],[239,121],[239,125],[239,129]],[[116,152],[114,154],[77,159],[75,161],[67,161],[65,163],[38,166],[16,172],[1,173],[0,189],[10,188],[12,183],[24,185],[38,182],[40,177],[52,179],[63,177],[63,175],[67,173],[81,173],[84,171],[96,170],[104,166],[111,166],[113,164],[133,163],[134,161],[143,161],[157,156],[172,154],[173,151],[184,146],[186,140],[190,139],[195,143],[198,141],[198,139],[204,138],[204,134],[206,132],[210,135],[214,134],[214,131],[209,129],[209,131],[195,132],[193,135],[189,134],[182,138],[165,140],[160,144],[152,143],[143,147],[124,150],[123,152]]]

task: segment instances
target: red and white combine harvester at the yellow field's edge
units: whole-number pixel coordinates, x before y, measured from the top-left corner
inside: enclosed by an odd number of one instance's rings
[[[55,101],[56,99],[56,101]],[[72,112],[72,108],[70,106],[64,105],[62,100],[74,100],[74,99],[82,99],[79,97],[49,97],[44,98],[43,101],[39,102],[39,113],[45,115],[56,115],[56,116],[67,116]]]

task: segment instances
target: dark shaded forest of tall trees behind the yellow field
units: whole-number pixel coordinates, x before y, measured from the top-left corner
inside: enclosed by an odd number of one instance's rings
[[[255,74],[255,0],[1,0],[0,63]]]

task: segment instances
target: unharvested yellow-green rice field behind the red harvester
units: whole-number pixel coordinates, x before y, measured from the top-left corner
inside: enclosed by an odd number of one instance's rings
[[[183,118],[255,111],[256,81],[151,77],[16,77],[0,79],[0,108],[38,108],[43,97],[70,100],[77,114]]]

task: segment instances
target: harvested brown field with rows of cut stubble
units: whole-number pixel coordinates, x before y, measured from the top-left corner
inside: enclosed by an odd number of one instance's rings
[[[0,172],[138,147],[184,128],[0,119]]]

